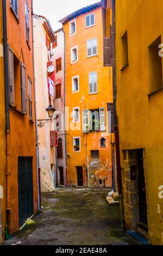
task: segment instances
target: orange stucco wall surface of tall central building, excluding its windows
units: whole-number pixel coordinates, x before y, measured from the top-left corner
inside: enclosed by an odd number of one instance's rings
[[[95,13],[95,26],[85,27],[85,16]],[[68,185],[77,186],[77,166],[83,166],[84,186],[87,186],[87,155],[89,157],[89,174],[94,174],[94,179],[90,177],[90,186],[98,186],[98,179],[107,179],[105,186],[112,186],[112,161],[111,161],[111,135],[108,132],[92,132],[87,135],[82,131],[82,112],[83,109],[96,109],[105,107],[105,119],[107,118],[107,102],[112,102],[112,77],[109,67],[103,66],[103,22],[102,9],[97,8],[76,17],[76,34],[70,36],[70,22],[64,25],[66,35],[66,107],[69,108],[69,114],[74,107],[80,107],[79,131],[72,130],[72,113],[70,118],[66,114],[67,129],[67,173]],[[87,40],[97,38],[98,55],[87,58]],[[71,65],[71,48],[78,45],[78,62]],[[89,95],[89,73],[96,72],[98,76],[98,93]],[[72,93],[72,77],[79,75],[79,92]],[[81,101],[81,99],[83,101]],[[66,109],[66,112],[68,111]],[[70,126],[68,125],[70,123]],[[69,127],[68,127],[69,126]],[[108,127],[107,127],[108,130]],[[73,137],[80,137],[81,151],[74,153]],[[100,138],[106,138],[106,148],[100,148]],[[93,170],[90,151],[99,150],[99,169]],[[102,185],[103,186],[103,185]]]

